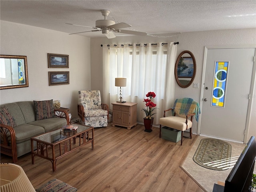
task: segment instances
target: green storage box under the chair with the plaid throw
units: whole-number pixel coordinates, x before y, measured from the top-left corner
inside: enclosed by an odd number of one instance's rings
[[[162,138],[172,142],[178,142],[181,140],[181,131],[170,128],[170,127],[161,127]]]

